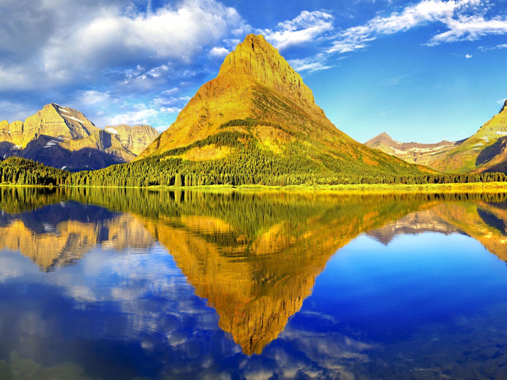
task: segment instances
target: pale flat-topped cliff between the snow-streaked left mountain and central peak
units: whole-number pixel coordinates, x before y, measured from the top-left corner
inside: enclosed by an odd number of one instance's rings
[[[136,156],[159,135],[158,131],[149,125],[134,125],[131,127],[121,124],[116,127],[106,126],[104,129],[114,134],[118,141]]]

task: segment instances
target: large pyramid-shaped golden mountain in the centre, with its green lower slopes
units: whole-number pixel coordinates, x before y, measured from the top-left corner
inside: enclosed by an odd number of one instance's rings
[[[252,168],[265,171],[261,177],[272,172],[273,165],[265,166],[268,161],[284,161],[287,174],[304,172],[311,177],[428,170],[366,147],[337,129],[315,104],[301,76],[262,35],[254,34],[225,58],[218,76],[197,91],[176,121],[135,160],[220,159],[238,165],[245,155],[262,157],[261,166]],[[257,183],[255,176],[252,171]]]

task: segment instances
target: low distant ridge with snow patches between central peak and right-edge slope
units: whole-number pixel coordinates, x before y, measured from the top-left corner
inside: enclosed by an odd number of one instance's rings
[[[461,141],[440,141],[436,144],[421,144],[419,142],[399,142],[393,140],[387,133],[365,142],[372,149],[379,149],[388,155],[396,156],[410,163],[430,165],[433,161],[442,157],[449,150],[461,144]]]

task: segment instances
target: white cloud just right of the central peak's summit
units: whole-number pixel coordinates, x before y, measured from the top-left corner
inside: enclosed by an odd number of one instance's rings
[[[278,30],[257,29],[266,40],[278,49],[292,45],[308,43],[321,38],[324,33],[333,30],[333,16],[329,13],[303,11],[292,20],[278,23]]]

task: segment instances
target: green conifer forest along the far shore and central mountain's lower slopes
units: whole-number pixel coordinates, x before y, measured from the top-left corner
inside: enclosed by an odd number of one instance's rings
[[[203,161],[181,157],[207,145],[229,146],[231,154]],[[0,162],[0,176],[3,184],[110,187],[505,182],[505,173],[426,173],[416,165],[387,160],[382,168],[302,141],[289,142],[282,154],[276,154],[248,133],[224,131],[161,155],[95,171],[73,173],[11,157]]]

